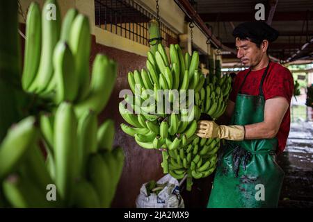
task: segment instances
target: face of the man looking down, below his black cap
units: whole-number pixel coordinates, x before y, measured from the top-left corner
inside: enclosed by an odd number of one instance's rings
[[[247,67],[254,67],[262,59],[264,52],[262,47],[257,47],[257,44],[250,40],[240,40],[236,38],[237,58]]]

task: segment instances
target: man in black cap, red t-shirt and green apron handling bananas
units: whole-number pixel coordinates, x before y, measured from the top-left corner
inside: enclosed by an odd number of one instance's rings
[[[230,126],[199,121],[199,137],[227,139],[208,207],[277,207],[284,172],[275,157],[286,146],[294,80],[268,58],[278,31],[246,22],[233,31],[237,57],[250,67],[237,74],[225,116]]]

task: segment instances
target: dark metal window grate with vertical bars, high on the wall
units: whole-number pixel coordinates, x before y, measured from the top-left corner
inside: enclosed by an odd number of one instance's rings
[[[149,46],[148,23],[155,15],[134,0],[95,0],[95,25],[129,40]],[[163,45],[178,43],[177,34],[160,22]]]

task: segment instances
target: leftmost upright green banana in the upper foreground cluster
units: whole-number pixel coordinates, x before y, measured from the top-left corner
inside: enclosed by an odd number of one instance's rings
[[[40,64],[41,27],[39,5],[32,2],[26,19],[24,69],[22,74],[22,87],[26,91],[35,79]]]

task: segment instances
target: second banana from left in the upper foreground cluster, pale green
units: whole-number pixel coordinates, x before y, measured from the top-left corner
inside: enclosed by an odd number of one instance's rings
[[[56,18],[49,17],[51,14],[50,6],[54,5]],[[35,79],[29,86],[30,92],[42,92],[51,78],[53,78],[54,69],[52,58],[54,47],[56,46],[61,31],[61,13],[56,0],[47,0],[42,8],[42,47],[40,54],[40,64]],[[38,44],[38,43],[35,43]],[[31,49],[33,50],[33,49]]]

